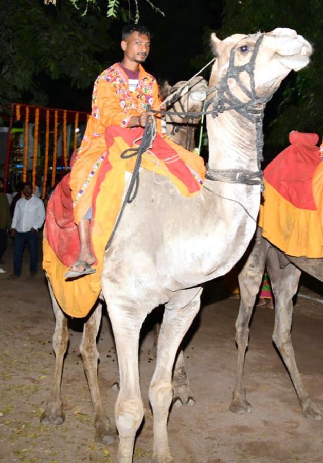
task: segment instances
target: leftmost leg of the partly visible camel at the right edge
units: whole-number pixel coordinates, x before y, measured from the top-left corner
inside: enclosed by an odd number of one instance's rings
[[[231,412],[251,412],[252,406],[247,401],[246,390],[243,383],[244,360],[249,340],[249,323],[253,313],[255,300],[259,292],[269,243],[262,238],[261,229],[257,228],[255,242],[252,250],[239,273],[240,307],[236,320],[236,343],[238,346],[237,375],[232,402],[229,406]]]

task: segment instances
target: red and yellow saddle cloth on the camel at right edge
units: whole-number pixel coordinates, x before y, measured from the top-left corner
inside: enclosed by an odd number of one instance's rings
[[[284,253],[323,257],[323,163],[316,133],[290,133],[291,145],[264,170],[262,235]]]

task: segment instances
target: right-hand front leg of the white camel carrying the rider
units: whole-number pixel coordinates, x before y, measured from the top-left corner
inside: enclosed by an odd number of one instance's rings
[[[167,419],[172,402],[172,369],[178,347],[200,308],[202,288],[178,291],[165,306],[158,339],[157,362],[149,387],[154,415],[154,461],[173,461],[167,435]]]

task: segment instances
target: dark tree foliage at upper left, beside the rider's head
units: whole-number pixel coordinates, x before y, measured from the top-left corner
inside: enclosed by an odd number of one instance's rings
[[[7,2],[0,10],[0,104],[47,104],[46,79],[67,79],[78,89],[92,87],[119,51],[115,31],[111,34],[116,17],[129,21],[139,14],[138,0],[131,2],[133,11],[119,0]]]

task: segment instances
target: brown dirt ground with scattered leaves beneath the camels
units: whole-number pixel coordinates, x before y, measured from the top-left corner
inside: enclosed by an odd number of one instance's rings
[[[8,281],[12,243],[5,254],[7,273],[0,274],[0,460],[11,463],[115,462],[116,446],[94,442],[92,404],[78,346],[81,324],[73,323],[65,360],[62,395],[66,413],[61,426],[43,426],[53,377],[51,337],[54,319],[44,275]],[[169,440],[176,463],[323,461],[323,421],[302,416],[294,389],[271,342],[274,311],[258,308],[252,322],[246,358],[246,388],[253,412],[235,415],[228,409],[235,378],[234,324],[238,301],[221,300],[221,280],[208,283],[199,316],[186,338],[185,360],[195,394],[193,407],[173,407]],[[300,292],[323,299],[320,286],[303,281]],[[304,384],[323,408],[323,305],[298,297],[293,342]],[[152,333],[141,344],[140,370],[145,423],[136,441],[134,461],[152,457],[152,417],[148,385],[154,368]],[[105,409],[113,419],[118,379],[109,320],[103,317],[98,339],[99,383]]]

